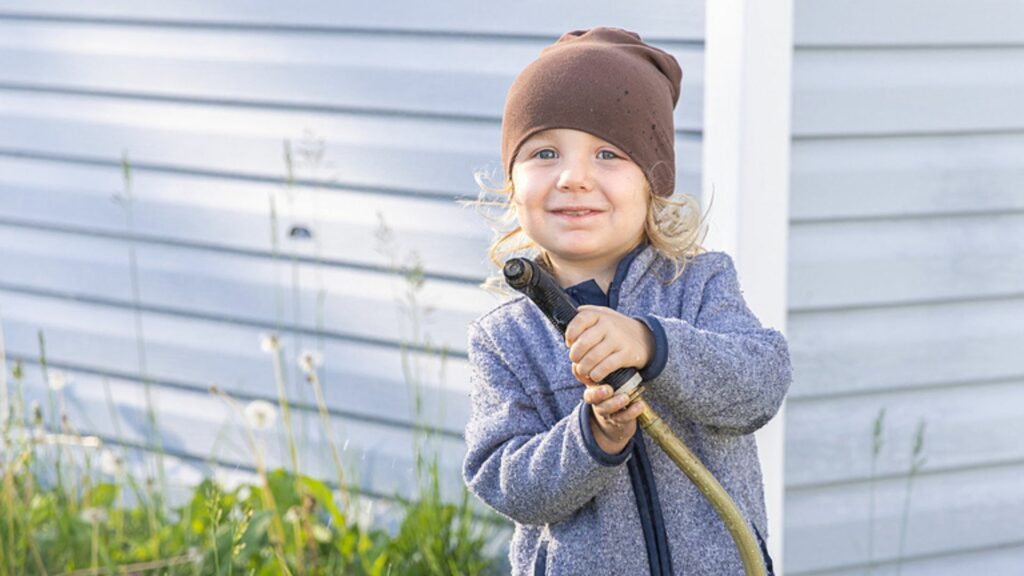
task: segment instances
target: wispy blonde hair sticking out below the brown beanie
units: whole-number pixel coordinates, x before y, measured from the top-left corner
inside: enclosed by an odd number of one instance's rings
[[[479,195],[476,200],[462,204],[474,206],[495,232],[487,256],[498,266],[499,273],[487,278],[481,286],[492,291],[507,292],[501,278],[501,269],[506,260],[514,256],[538,257],[549,270],[551,262],[544,248],[530,240],[516,220],[512,204],[515,187],[511,178],[504,187],[493,188],[484,181],[490,177],[487,172],[476,171],[473,179],[480,189]],[[671,284],[682,276],[690,260],[706,251],[702,242],[708,235],[708,215],[701,215],[700,203],[689,194],[677,194],[672,198],[655,196],[646,178],[644,192],[648,198],[644,238],[673,264],[672,275],[665,279],[666,284]]]

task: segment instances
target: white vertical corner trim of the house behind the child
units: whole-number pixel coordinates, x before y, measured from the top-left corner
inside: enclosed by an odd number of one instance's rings
[[[793,0],[715,0],[706,9],[706,245],[732,255],[748,305],[764,326],[785,333]],[[776,574],[783,560],[784,421],[783,406],[757,433]]]

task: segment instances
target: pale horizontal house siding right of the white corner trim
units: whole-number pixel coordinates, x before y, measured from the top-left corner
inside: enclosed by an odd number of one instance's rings
[[[795,9],[786,573],[1024,574],[1024,5]]]

